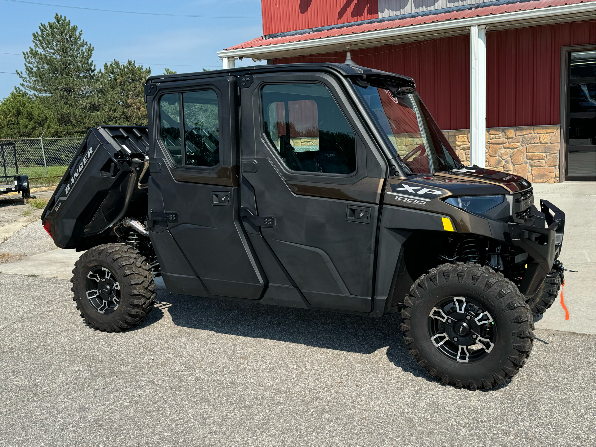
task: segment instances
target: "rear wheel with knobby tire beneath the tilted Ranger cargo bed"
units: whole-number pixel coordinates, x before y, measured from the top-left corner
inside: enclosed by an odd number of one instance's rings
[[[120,332],[141,322],[155,300],[147,258],[124,244],[104,244],[75,263],[71,290],[80,316],[95,330]]]

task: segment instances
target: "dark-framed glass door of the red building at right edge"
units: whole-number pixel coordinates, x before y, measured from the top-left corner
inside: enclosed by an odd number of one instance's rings
[[[569,52],[565,179],[596,179],[596,52]]]

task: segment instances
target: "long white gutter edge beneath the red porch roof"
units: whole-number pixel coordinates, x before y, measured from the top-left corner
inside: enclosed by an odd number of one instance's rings
[[[417,25],[402,26],[383,30],[367,31],[326,38],[314,38],[307,41],[285,42],[283,44],[272,44],[253,46],[250,48],[224,49],[218,51],[218,57],[292,57],[294,55],[316,54],[320,52],[337,51],[334,46],[350,44],[352,48],[370,48],[371,46],[387,45],[394,39],[411,38],[409,40],[422,40],[433,34],[441,34],[451,30],[467,32],[467,28],[474,25],[492,25],[515,27],[515,22],[536,20],[552,17],[566,18],[573,14],[594,15],[596,2],[577,3],[572,5],[560,5],[535,10],[512,11],[511,13],[481,15],[479,17],[457,18],[454,20],[436,21]],[[589,17],[581,18],[587,20]],[[518,24],[519,25],[519,24]],[[529,24],[529,26],[532,26]],[[264,41],[266,42],[266,41]],[[361,45],[358,45],[361,44]],[[322,50],[322,51],[321,51]],[[283,53],[283,55],[280,55]]]

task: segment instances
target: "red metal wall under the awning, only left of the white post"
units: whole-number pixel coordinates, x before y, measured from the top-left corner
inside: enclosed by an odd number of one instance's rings
[[[441,129],[470,127],[470,38],[434,39],[352,51],[356,64],[413,77]],[[270,63],[343,62],[345,52],[271,60]]]

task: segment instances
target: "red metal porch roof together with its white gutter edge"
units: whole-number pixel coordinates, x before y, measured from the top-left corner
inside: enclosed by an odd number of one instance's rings
[[[465,7],[375,18],[312,30],[254,38],[218,52],[219,57],[291,57],[466,33],[470,24],[489,29],[537,26],[594,18],[595,2],[583,0],[495,1]],[[501,20],[502,19],[502,20]],[[474,22],[474,23],[472,23]],[[476,23],[477,22],[477,23]],[[420,31],[419,33],[418,30]],[[411,31],[411,32],[410,32]]]

